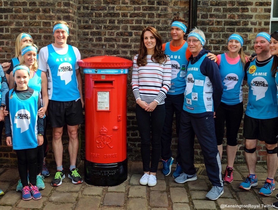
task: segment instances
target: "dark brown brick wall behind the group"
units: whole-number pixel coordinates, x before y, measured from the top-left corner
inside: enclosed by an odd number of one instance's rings
[[[15,38],[20,32],[29,32],[40,48],[53,42],[52,26],[55,20],[65,20],[70,25],[68,44],[77,46],[82,58],[97,55],[116,55],[132,59],[137,53],[143,27],[158,29],[163,41],[171,40],[170,23],[175,15],[188,19],[188,0],[13,0],[0,1],[0,61],[14,56]],[[232,32],[246,36],[244,49],[253,52],[252,43],[259,31],[269,31],[271,0],[198,1],[197,25],[205,32],[206,49],[219,54],[227,47],[227,37]],[[131,73],[128,75],[128,84]],[[247,88],[244,88],[247,91]],[[244,95],[246,103],[247,94]],[[135,101],[128,85],[128,157],[140,160],[140,137],[135,119]],[[245,104],[246,106],[246,104]],[[84,158],[84,125],[80,127],[81,152]],[[173,128],[175,131],[175,127]],[[66,132],[66,131],[65,131]],[[174,132],[175,133],[175,132]],[[51,130],[48,131],[51,139]],[[239,145],[236,161],[242,162],[242,128],[238,134]],[[67,136],[63,136],[67,145]],[[2,142],[0,164],[15,164],[15,153]],[[50,141],[48,159],[55,166]],[[173,136],[174,155],[177,137]],[[265,161],[265,148],[258,145],[258,160]],[[68,158],[65,150],[65,161]],[[195,146],[195,160],[202,161],[200,146]],[[225,151],[223,159],[226,158]]]

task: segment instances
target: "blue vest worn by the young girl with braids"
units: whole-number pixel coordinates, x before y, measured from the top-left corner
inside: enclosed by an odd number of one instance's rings
[[[39,92],[34,90],[29,99],[21,100],[15,92],[11,99],[12,91],[9,91],[9,107],[13,149],[36,148]]]

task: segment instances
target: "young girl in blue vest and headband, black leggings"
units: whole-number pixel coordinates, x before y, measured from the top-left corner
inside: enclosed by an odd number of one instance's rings
[[[38,117],[41,108],[39,92],[28,87],[30,69],[18,65],[13,69],[15,87],[6,94],[6,143],[16,151],[23,200],[39,200],[36,186],[38,147],[43,144],[43,119]],[[27,179],[29,172],[30,187]]]

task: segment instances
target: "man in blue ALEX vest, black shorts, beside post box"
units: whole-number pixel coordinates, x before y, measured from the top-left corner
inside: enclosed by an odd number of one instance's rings
[[[83,122],[82,77],[77,61],[81,59],[76,47],[68,45],[69,25],[65,21],[53,24],[54,44],[42,48],[39,54],[39,69],[47,73],[48,78],[48,117],[53,127],[52,146],[57,172],[51,185],[59,186],[65,178],[62,166],[63,127],[67,124],[69,134],[70,171],[68,177],[72,183],[82,183],[76,168],[78,153],[78,125]]]

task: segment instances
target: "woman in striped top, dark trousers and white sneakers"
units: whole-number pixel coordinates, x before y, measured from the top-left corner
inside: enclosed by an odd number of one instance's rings
[[[141,136],[144,175],[140,184],[155,186],[165,119],[164,99],[171,86],[171,61],[162,51],[162,38],[154,27],[142,31],[138,54],[133,60],[132,90]],[[150,142],[152,143],[150,166]]]

